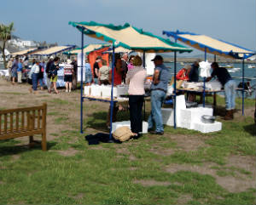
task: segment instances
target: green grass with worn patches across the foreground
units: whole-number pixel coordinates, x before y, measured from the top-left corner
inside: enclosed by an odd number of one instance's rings
[[[69,105],[67,100],[51,102]],[[50,111],[48,116],[56,127],[71,123],[60,111]],[[144,134],[139,140],[122,144],[88,145],[84,136],[91,134],[91,128],[108,131],[106,117],[107,111],[95,111],[86,117],[84,134],[79,133],[79,122],[73,122],[71,128],[56,129],[49,134],[55,140],[48,141],[46,152],[40,145],[32,149],[17,145],[19,139],[0,140],[0,204],[180,204],[186,196],[184,202],[188,204],[255,204],[255,189],[230,192],[210,174],[166,171],[167,166],[176,164],[204,167],[213,163],[211,168],[219,177],[239,179],[242,175],[252,179],[251,172],[227,164],[230,155],[255,157],[252,117],[223,122],[222,130],[211,134],[166,126],[163,136]],[[129,112],[118,114],[119,120],[127,117]],[[196,135],[205,145],[184,151],[182,145],[171,140],[172,135]],[[173,153],[161,155],[152,149]],[[73,150],[73,155],[62,155]],[[14,160],[14,154],[20,157]],[[142,185],[137,180],[155,183]]]

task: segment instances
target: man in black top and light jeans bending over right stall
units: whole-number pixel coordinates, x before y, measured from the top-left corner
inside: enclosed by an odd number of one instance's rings
[[[230,73],[224,67],[218,67],[218,63],[212,63],[212,75],[207,78],[207,82],[212,77],[217,77],[218,81],[223,85],[225,92],[226,114],[224,120],[232,120],[236,107],[236,82],[230,77]]]

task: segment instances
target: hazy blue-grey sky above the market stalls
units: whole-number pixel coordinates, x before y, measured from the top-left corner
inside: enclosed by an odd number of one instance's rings
[[[14,22],[14,34],[24,40],[80,46],[80,32],[68,22],[92,20],[115,26],[128,22],[165,38],[164,30],[190,31],[256,50],[255,0],[0,1],[0,23]],[[87,43],[103,42],[84,37]]]

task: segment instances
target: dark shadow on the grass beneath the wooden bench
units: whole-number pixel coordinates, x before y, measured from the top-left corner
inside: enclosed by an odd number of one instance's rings
[[[47,150],[49,150],[52,146],[55,146],[56,142],[47,142]],[[0,150],[0,157],[20,154],[25,151],[34,151],[34,150],[42,150],[41,143],[36,143],[32,147],[29,145],[4,145]]]

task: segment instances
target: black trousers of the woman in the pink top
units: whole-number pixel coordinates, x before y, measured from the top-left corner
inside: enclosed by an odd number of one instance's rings
[[[138,134],[143,131],[144,95],[129,95],[131,132]]]

